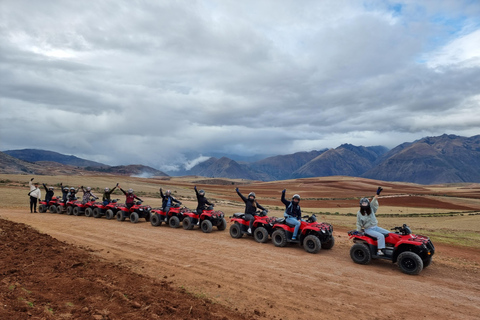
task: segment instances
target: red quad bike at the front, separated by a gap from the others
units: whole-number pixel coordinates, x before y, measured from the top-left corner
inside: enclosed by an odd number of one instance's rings
[[[348,232],[350,239],[355,243],[350,248],[350,257],[355,263],[369,264],[372,259],[382,259],[397,262],[400,270],[406,274],[419,274],[432,262],[435,253],[430,238],[412,234],[410,228],[404,224],[395,227],[385,235],[384,255],[377,255],[377,239],[364,232],[352,230]]]

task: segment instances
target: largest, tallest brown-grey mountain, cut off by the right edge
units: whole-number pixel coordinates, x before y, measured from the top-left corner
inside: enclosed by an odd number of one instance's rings
[[[427,137],[386,153],[362,176],[421,184],[480,182],[480,135]]]

